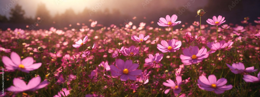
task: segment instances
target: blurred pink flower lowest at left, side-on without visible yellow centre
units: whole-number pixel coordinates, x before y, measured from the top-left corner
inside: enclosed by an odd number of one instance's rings
[[[14,78],[13,84],[14,86],[10,86],[6,90],[11,92],[36,91],[47,86],[49,82],[47,80],[41,82],[41,77],[37,76],[32,78],[27,85],[22,79]]]

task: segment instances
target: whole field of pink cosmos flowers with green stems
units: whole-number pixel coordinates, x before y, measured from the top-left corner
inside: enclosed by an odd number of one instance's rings
[[[197,18],[207,24],[167,15],[140,25],[1,30],[0,96],[260,96],[260,25],[204,13]]]

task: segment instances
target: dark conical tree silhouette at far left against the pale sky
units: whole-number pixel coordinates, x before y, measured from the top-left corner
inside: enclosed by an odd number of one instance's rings
[[[19,4],[15,5],[14,8],[11,9],[10,12],[10,22],[12,23],[22,23],[24,22],[24,15],[25,11],[22,9],[22,6]]]

